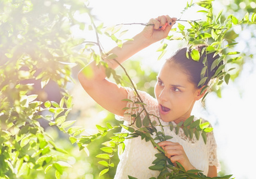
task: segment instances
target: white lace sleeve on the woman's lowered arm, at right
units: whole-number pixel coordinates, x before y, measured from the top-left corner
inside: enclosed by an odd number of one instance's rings
[[[221,171],[220,162],[217,156],[217,143],[214,138],[214,131],[207,134],[207,147],[209,151],[209,166],[216,166],[217,172]]]

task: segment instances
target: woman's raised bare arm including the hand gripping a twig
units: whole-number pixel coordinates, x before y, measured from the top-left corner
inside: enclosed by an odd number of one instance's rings
[[[170,18],[169,16],[159,16],[158,18],[151,18],[148,24],[154,24],[146,26],[141,33],[133,38],[133,41],[124,42],[123,47],[115,47],[108,54],[117,55],[119,63],[127,60],[132,55],[138,53],[145,47],[166,38],[171,27],[175,23],[176,18]],[[165,29],[161,29],[167,22]],[[106,60],[108,66],[115,69],[118,64],[114,60]],[[88,74],[91,72],[92,74]],[[95,61],[92,61],[78,74],[78,79],[83,86],[84,90],[103,108],[115,115],[123,116],[127,102],[121,101],[127,98],[127,92],[124,88],[118,87],[117,84],[110,82],[106,79],[105,67],[98,67]]]

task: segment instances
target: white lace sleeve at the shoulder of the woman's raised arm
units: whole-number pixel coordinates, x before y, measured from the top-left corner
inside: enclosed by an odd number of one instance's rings
[[[139,97],[138,95],[135,93],[135,91],[133,91],[131,88],[126,88],[127,91],[127,99],[131,100],[127,102],[127,109],[124,112],[124,116],[115,116],[115,118],[119,121],[126,121],[129,122],[129,124],[132,124],[133,121],[135,121],[135,118],[132,115],[137,115],[138,113],[140,113],[141,115],[141,119],[144,119],[146,116],[145,112],[142,112],[143,110],[143,106],[141,104],[136,104],[136,101],[139,101]],[[141,100],[143,103],[147,104],[145,105],[145,109],[147,110],[148,113],[152,114],[152,118],[151,121],[156,121],[156,124],[159,124],[158,120],[156,117],[154,116],[158,116],[157,114],[157,101],[155,98],[151,97],[150,94],[148,94],[147,92],[144,91],[138,91],[139,96],[141,97]]]

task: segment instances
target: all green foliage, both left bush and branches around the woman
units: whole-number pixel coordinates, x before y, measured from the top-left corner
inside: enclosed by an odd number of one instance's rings
[[[68,120],[68,114],[72,109],[72,96],[68,93],[67,84],[73,82],[71,67],[77,63],[86,64],[89,60],[95,60],[97,64],[108,67],[101,60],[104,54],[103,47],[100,46],[99,35],[108,36],[118,47],[122,47],[123,41],[131,39],[120,39],[127,32],[121,31],[121,26],[105,28],[103,23],[96,26],[95,17],[86,6],[87,1],[54,1],[54,0],[27,0],[0,2],[0,178],[22,178],[33,175],[33,172],[43,172],[49,174],[53,172],[56,178],[60,178],[66,168],[71,167],[67,162],[67,156],[71,154],[57,146],[56,141],[45,132],[45,122],[48,127],[59,129],[69,137],[72,144],[82,149],[87,145],[108,137],[109,141],[103,142],[100,147],[102,153],[99,158],[99,165],[103,167],[99,175],[106,175],[117,163],[112,162],[115,153],[122,153],[124,150],[124,140],[132,137],[141,137],[142,140],[151,141],[153,146],[157,146],[155,140],[168,140],[171,136],[165,136],[163,131],[156,131],[155,124],[152,124],[150,114],[145,119],[141,119],[139,114],[133,126],[97,125],[97,134],[81,135],[84,132],[82,126],[73,126],[75,121]],[[193,1],[187,4],[184,11],[193,6]],[[223,19],[223,11],[214,16],[212,13],[212,1],[199,1],[197,5],[204,7],[206,21],[187,21],[190,28],[185,24],[178,23],[178,29],[172,30],[172,35],[167,37],[167,41],[183,40],[193,49],[197,44],[208,44],[207,52],[217,51],[221,58],[213,64],[217,66],[221,61],[218,73],[218,82],[221,85],[224,81],[228,84],[231,78],[228,63],[236,63],[240,60],[240,52],[230,51],[236,45],[228,32],[234,26],[242,24],[255,24],[256,14],[251,10],[245,13],[240,19],[230,15]],[[91,24],[85,24],[76,20],[75,13],[86,14],[90,17]],[[83,38],[71,38],[71,27],[78,25],[81,30],[89,29],[95,32],[96,42],[85,41]],[[120,33],[118,36],[117,34]],[[181,36],[176,36],[176,35]],[[224,45],[224,41],[228,41]],[[81,49],[78,45],[84,45]],[[75,48],[74,48],[75,47]],[[98,47],[99,50],[96,50]],[[167,43],[159,48],[161,52],[159,59],[166,52]],[[98,52],[99,51],[99,52]],[[86,55],[86,57],[84,57]],[[105,54],[108,58],[113,58],[114,54]],[[192,50],[189,54],[194,60],[200,57],[200,53]],[[231,56],[231,57],[230,57]],[[232,57],[234,56],[234,57]],[[82,60],[78,60],[82,59]],[[207,61],[205,61],[207,63]],[[138,66],[138,65],[136,65]],[[121,66],[123,67],[123,66]],[[124,69],[124,67],[123,67]],[[209,70],[204,68],[202,76]],[[106,70],[107,76],[114,78],[117,84],[126,85],[126,81],[133,86],[135,84],[126,73],[126,77],[121,78],[115,70]],[[90,75],[90,72],[88,72]],[[153,74],[154,75],[154,74]],[[202,82],[206,78],[202,78]],[[144,80],[147,81],[147,80]],[[60,88],[60,98],[51,100],[45,96],[46,88],[53,82]],[[141,82],[138,86],[142,87]],[[200,84],[199,84],[200,85]],[[153,93],[152,88],[151,93]],[[205,88],[206,90],[206,88]],[[140,100],[134,103],[144,105]],[[202,124],[202,121],[187,119],[184,124],[176,126],[170,125],[171,130],[183,129],[187,137],[200,136],[206,142],[206,132],[211,132],[209,124]],[[117,132],[124,128],[126,132]],[[117,130],[117,131],[116,131]],[[156,136],[154,136],[154,135]],[[153,137],[154,136],[154,137]],[[199,171],[185,172],[181,165],[173,167],[172,163],[165,158],[163,150],[157,147],[160,153],[156,155],[157,161],[153,162],[150,169],[161,171],[160,175],[169,175],[171,178],[184,177],[205,177]],[[173,173],[167,173],[167,168],[172,168]],[[195,172],[199,172],[194,176]],[[129,178],[134,178],[129,176]],[[224,177],[230,178],[230,176]]]

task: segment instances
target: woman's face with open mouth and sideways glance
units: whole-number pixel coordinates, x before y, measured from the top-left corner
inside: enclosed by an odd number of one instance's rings
[[[161,119],[176,124],[190,117],[195,101],[202,97],[187,73],[172,61],[166,61],[160,70],[155,95]]]

